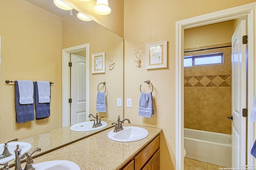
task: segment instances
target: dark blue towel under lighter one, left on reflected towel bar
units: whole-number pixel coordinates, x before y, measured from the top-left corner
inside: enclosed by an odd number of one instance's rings
[[[20,104],[18,81],[15,81],[14,85],[15,85],[16,122],[24,123],[27,121],[33,121],[35,119],[34,118],[34,102],[32,104]],[[33,99],[34,99],[34,93],[33,93]]]

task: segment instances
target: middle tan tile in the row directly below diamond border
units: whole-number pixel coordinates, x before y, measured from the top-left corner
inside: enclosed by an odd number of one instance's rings
[[[218,102],[219,101],[219,87],[202,87],[203,102]]]

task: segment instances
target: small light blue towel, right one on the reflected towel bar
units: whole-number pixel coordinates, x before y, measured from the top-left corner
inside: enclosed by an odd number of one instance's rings
[[[50,103],[51,86],[50,82],[37,81],[39,103]]]

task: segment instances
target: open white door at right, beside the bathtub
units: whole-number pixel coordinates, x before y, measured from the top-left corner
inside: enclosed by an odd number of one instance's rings
[[[246,45],[242,36],[246,35],[246,20],[240,21],[232,36],[232,168],[246,165],[246,117],[242,109],[246,104]]]

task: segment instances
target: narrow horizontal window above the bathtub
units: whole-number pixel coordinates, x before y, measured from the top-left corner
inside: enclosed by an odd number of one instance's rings
[[[223,56],[223,52],[185,56],[184,67],[224,64]]]

